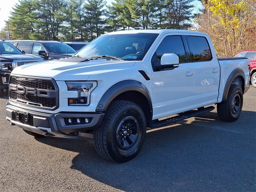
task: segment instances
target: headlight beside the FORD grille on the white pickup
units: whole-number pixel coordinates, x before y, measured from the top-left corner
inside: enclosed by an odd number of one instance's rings
[[[78,91],[78,98],[68,98],[68,105],[82,105],[87,106],[90,104],[91,92],[96,88],[96,81],[66,81],[68,90]]]

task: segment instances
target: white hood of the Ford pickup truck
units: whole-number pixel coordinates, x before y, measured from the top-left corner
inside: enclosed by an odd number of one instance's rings
[[[48,77],[55,80],[88,80],[91,74],[102,70],[121,70],[131,67],[134,61],[95,59],[81,62],[85,58],[47,60],[14,68],[12,74]]]

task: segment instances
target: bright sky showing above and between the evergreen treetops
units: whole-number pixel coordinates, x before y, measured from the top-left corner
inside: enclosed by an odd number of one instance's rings
[[[1,0],[3,1],[3,0]],[[0,30],[1,28],[4,28],[5,26],[5,20],[8,20],[8,17],[10,16],[10,11],[12,11],[12,7],[18,3],[19,0],[8,0],[6,3],[0,4]],[[113,0],[106,0],[107,4],[111,4]],[[195,1],[194,4],[196,5],[195,10],[193,12],[196,12],[198,8],[202,7],[201,2]]]

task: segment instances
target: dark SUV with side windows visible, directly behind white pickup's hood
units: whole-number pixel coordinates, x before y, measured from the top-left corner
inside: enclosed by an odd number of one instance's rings
[[[26,54],[38,55],[45,60],[70,57],[76,50],[58,41],[11,40],[8,41]]]

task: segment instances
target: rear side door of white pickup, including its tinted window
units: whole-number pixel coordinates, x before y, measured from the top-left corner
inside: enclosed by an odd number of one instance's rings
[[[217,102],[220,82],[220,65],[206,37],[185,36],[190,54],[190,62],[194,67],[195,104],[205,106]]]

